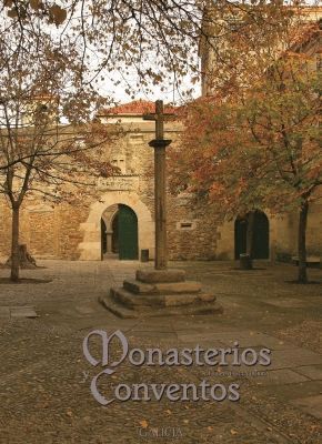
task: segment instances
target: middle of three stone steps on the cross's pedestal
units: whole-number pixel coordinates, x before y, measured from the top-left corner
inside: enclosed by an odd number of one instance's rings
[[[135,294],[125,289],[111,289],[111,299],[129,309],[184,306],[214,302],[215,295],[210,293],[182,293],[182,294]]]

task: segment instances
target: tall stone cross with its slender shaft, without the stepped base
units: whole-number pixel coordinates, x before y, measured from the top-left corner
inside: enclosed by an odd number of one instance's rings
[[[163,113],[162,100],[157,100],[154,114],[143,115],[143,120],[155,121],[155,139],[149,143],[154,148],[155,270],[165,270],[168,265],[165,148],[171,140],[164,139],[163,124],[170,115],[173,114]]]

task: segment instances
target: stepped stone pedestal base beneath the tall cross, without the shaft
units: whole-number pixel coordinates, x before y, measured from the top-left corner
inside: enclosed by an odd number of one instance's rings
[[[111,289],[100,302],[119,317],[222,313],[215,295],[185,281],[184,270],[138,270],[135,280]]]

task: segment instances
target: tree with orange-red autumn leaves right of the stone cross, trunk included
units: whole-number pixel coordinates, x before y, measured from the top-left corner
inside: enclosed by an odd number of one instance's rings
[[[224,218],[270,209],[299,213],[299,276],[308,282],[310,203],[321,198],[321,73],[285,53],[238,100],[204,98],[187,112],[184,150],[172,153],[172,190],[204,196]]]

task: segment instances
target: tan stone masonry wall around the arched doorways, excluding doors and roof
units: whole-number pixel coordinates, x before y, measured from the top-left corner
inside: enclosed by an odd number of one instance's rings
[[[137,125],[138,127],[138,125]],[[79,204],[51,206],[42,200],[29,200],[21,211],[20,242],[30,253],[41,258],[68,260],[101,259],[101,218],[109,209],[123,203],[137,213],[139,250],[154,255],[153,150],[148,145],[154,137],[152,123],[141,123],[139,130],[124,125],[124,138],[107,147],[105,159],[120,162],[122,175],[101,180],[95,195]],[[165,134],[179,143],[180,127],[174,124]],[[171,149],[171,147],[169,148]],[[219,224],[208,205],[195,205],[181,194],[168,196],[168,243],[172,260],[234,259],[234,221]],[[11,214],[0,199],[0,256],[9,255]],[[298,216],[289,214],[270,221],[271,251],[296,254]],[[105,221],[107,222],[107,221]],[[322,255],[322,203],[311,206],[308,224],[308,252]]]

